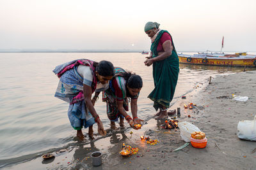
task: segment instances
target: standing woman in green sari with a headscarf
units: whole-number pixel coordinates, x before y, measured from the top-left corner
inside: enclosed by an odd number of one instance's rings
[[[179,58],[173,39],[168,31],[159,29],[157,22],[147,22],[144,31],[150,37],[152,44],[150,56],[146,57],[146,66],[153,64],[153,78],[155,89],[148,98],[154,101],[154,108],[160,111],[155,115],[157,119],[168,117],[167,110],[173,99],[179,76]]]

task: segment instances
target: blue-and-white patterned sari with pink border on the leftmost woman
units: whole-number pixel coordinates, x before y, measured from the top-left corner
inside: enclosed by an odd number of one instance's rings
[[[92,91],[94,92],[97,86],[97,78],[92,60],[73,60],[72,62],[61,64],[53,70],[60,78],[55,97],[70,103],[68,118],[75,130],[81,130],[83,126],[86,128],[95,124],[92,114],[84,103],[83,78],[77,73],[77,66],[80,64],[90,67],[93,75]]]

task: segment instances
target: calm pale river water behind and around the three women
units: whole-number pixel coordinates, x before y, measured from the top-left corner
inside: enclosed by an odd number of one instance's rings
[[[141,53],[0,53],[0,167],[74,143],[76,131],[68,121],[68,103],[54,97],[58,77],[52,69],[63,62],[81,58],[109,60],[114,66],[139,74],[143,88],[138,99],[138,116],[151,117],[155,110],[147,96],[154,83],[152,67],[143,63],[146,56]],[[243,68],[180,64],[172,104],[209,76],[239,71]],[[106,104],[99,100],[95,108],[104,127],[109,128]]]

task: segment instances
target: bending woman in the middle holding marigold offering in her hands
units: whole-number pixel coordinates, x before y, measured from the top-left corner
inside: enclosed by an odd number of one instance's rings
[[[109,81],[109,89],[102,93],[103,101],[107,104],[107,115],[111,129],[117,129],[115,122],[120,118],[120,127],[124,127],[124,118],[134,128],[134,124],[141,124],[137,116],[137,99],[142,88],[142,79],[136,74],[115,67],[115,76]],[[128,98],[131,98],[132,118],[127,114],[129,110]]]

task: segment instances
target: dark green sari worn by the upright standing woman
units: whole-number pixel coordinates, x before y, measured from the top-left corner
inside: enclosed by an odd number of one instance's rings
[[[153,58],[158,56],[157,45],[164,32],[170,34],[168,31],[161,30],[150,47],[150,50],[153,52]],[[155,89],[148,95],[148,98],[154,101],[153,107],[156,111],[158,108],[163,108],[163,106],[169,108],[178,81],[179,57],[173,45],[173,41],[172,46],[172,55],[164,60],[153,63]]]

